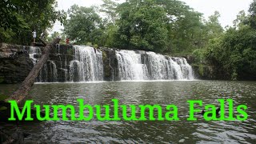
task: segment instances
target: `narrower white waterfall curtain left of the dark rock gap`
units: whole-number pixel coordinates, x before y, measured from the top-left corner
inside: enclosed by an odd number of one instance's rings
[[[70,82],[102,81],[102,51],[90,46],[74,46],[70,61]]]

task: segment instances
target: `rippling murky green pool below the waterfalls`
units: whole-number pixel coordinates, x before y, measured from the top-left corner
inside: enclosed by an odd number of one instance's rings
[[[0,85],[0,93],[10,94],[17,85]],[[48,121],[19,125],[30,133],[27,143],[255,143],[256,82],[163,81],[163,82],[96,82],[38,83],[29,97],[36,104],[72,104],[83,98],[90,105],[159,104],[178,106],[179,121]],[[234,100],[234,106],[248,107],[246,121],[187,121],[188,100],[202,99],[203,105],[218,106],[218,99]],[[198,107],[200,108],[200,107]],[[238,114],[234,109],[234,114]],[[7,126],[6,126],[7,127]]]

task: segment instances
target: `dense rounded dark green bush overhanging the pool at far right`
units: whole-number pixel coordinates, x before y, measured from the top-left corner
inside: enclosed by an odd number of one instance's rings
[[[243,26],[230,28],[221,38],[210,42],[206,52],[208,62],[226,71],[230,79],[255,79],[256,30]]]

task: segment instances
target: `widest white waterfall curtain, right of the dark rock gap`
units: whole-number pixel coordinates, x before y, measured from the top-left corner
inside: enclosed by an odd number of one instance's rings
[[[172,58],[154,52],[118,50],[118,77],[120,80],[184,80],[194,79],[186,58]]]

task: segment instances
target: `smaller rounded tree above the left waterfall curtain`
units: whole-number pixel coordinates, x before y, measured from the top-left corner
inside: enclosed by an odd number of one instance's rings
[[[69,19],[64,23],[64,33],[70,40],[78,44],[96,41],[92,35],[102,34],[102,18],[96,13],[94,7],[73,5],[68,10]],[[95,40],[95,41],[94,41]]]

